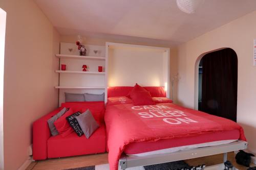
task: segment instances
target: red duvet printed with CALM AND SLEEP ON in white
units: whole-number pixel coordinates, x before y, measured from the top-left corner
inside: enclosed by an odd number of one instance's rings
[[[233,129],[239,129],[240,139],[246,141],[242,127],[232,120],[172,103],[107,106],[104,118],[111,170],[118,169],[118,160],[125,146],[131,142],[157,141]]]

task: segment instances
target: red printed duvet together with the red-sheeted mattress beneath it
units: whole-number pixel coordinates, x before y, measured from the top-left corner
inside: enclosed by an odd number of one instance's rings
[[[242,127],[232,120],[173,103],[134,106],[127,101],[108,104],[104,115],[111,170],[118,169],[122,153],[230,139],[246,141]]]

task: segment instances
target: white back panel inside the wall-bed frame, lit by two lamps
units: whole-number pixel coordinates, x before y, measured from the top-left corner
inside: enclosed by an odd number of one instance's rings
[[[167,68],[164,72],[163,60],[159,51],[110,48],[108,86],[164,86]]]

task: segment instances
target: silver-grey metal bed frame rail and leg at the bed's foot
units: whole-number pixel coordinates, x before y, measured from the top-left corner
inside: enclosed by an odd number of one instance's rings
[[[126,156],[122,155],[119,159],[118,169],[126,169],[130,167],[136,166],[145,166],[145,165],[153,165],[159,163],[173,162],[178,160],[185,160],[191,158],[198,158],[209,155],[216,155],[224,153],[223,161],[227,160],[227,153],[244,150],[247,148],[247,142],[243,140],[238,140],[228,144],[221,144],[213,147],[203,147],[197,148],[188,151],[179,151],[174,153],[166,153],[166,154],[156,154],[150,156]],[[222,164],[209,166],[205,169],[219,169],[222,167]]]

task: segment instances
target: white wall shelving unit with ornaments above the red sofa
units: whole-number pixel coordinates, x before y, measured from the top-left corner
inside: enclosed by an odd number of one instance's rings
[[[59,91],[59,106],[65,102],[65,93],[102,94],[107,89],[105,46],[84,46],[87,56],[79,56],[77,45],[66,42],[60,43],[60,54],[55,54],[59,58],[59,70],[55,70],[59,74],[59,84],[54,87]],[[66,70],[60,69],[61,64],[66,65]],[[88,71],[82,71],[82,65],[87,65]],[[99,66],[102,66],[102,72],[98,71]]]

